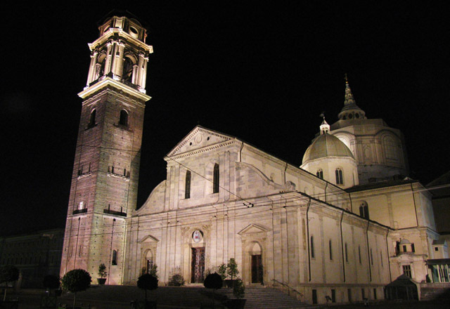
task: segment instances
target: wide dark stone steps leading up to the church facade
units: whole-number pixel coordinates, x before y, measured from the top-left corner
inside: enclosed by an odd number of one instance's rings
[[[226,288],[217,290],[215,295],[216,303],[225,303],[226,299],[234,298],[233,291]],[[144,297],[144,291],[138,287],[93,286],[77,293],[77,303],[105,303],[104,306],[98,305],[97,308],[130,308],[131,301]],[[60,301],[71,303],[72,299],[72,294],[65,294]],[[147,291],[147,299],[156,300],[158,308],[200,308],[200,303],[212,303],[212,291],[204,287],[158,287],[154,291]],[[264,287],[246,287],[245,299],[247,299],[246,309],[318,308],[297,301],[276,289]]]

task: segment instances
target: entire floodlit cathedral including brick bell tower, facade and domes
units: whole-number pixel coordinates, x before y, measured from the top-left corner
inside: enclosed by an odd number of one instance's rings
[[[96,278],[104,263],[107,284],[136,284],[158,265],[160,284],[174,274],[200,284],[235,258],[245,284],[288,286],[307,303],[381,299],[399,275],[449,280],[449,265],[430,266],[448,249],[430,192],[408,177],[401,131],[366,116],[348,81],[338,121],[323,118],[301,166],[195,126],[137,209],[153,48],[134,18],[112,15],[98,29],[79,93],[61,276],[83,268]]]

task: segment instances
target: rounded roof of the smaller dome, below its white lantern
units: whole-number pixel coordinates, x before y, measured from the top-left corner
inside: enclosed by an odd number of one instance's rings
[[[302,164],[314,159],[324,157],[351,157],[349,148],[342,141],[328,133],[321,134],[313,140],[306,152],[304,152]]]

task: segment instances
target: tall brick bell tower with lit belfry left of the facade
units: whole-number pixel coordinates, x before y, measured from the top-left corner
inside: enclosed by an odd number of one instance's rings
[[[125,219],[136,209],[146,101],[147,31],[132,15],[110,13],[89,44],[60,275],[82,268],[96,283],[122,284]]]

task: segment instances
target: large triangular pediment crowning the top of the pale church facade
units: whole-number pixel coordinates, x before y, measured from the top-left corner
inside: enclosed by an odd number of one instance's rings
[[[186,152],[192,152],[233,139],[233,136],[206,129],[203,128],[203,126],[195,126],[195,128],[167,154],[167,157],[181,155]]]

